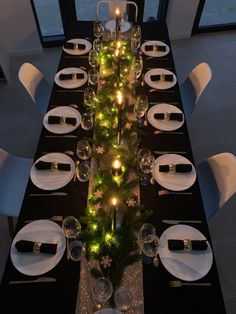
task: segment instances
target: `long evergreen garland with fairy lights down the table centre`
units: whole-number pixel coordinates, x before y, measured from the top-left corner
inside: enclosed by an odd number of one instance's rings
[[[133,55],[128,41],[120,40],[119,80],[117,80],[117,43],[107,42],[99,53],[100,86],[94,111],[93,159],[95,175],[88,197],[84,246],[89,260],[98,260],[95,277],[107,277],[118,287],[128,265],[140,259],[136,235],[151,213],[139,204],[136,153],[138,137],[133,118],[133,88],[130,81]],[[117,106],[117,91],[123,95]],[[118,113],[120,125],[118,128]],[[117,141],[117,132],[120,139]]]

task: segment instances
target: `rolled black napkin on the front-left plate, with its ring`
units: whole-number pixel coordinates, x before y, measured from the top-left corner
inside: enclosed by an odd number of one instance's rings
[[[34,242],[28,240],[19,240],[15,243],[15,248],[18,252],[22,253],[46,253],[46,254],[56,254],[57,244],[54,243],[42,243]]]

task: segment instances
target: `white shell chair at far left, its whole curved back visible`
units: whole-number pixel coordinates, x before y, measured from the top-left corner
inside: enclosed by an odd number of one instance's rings
[[[18,71],[18,78],[25,87],[40,113],[47,111],[51,86],[42,72],[31,63],[23,63]]]

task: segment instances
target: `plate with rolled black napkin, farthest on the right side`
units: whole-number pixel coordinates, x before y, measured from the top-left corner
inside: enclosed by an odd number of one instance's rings
[[[158,40],[145,41],[140,49],[143,54],[152,58],[164,57],[170,52],[170,47]]]

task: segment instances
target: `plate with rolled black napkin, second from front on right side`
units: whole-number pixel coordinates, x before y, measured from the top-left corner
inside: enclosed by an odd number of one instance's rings
[[[156,182],[170,191],[184,191],[196,181],[196,169],[184,156],[164,154],[152,165],[152,175]]]

